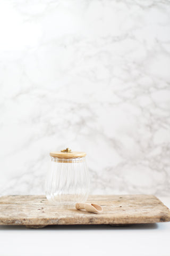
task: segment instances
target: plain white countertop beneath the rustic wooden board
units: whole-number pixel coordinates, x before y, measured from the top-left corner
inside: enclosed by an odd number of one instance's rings
[[[170,207],[169,197],[159,199]],[[0,226],[1,256],[135,255],[169,256],[170,222],[127,227]]]

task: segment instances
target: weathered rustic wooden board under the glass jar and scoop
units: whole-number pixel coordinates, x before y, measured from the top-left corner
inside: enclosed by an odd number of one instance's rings
[[[91,195],[88,202],[103,206],[95,214],[74,206],[50,204],[45,196],[15,195],[0,197],[0,225],[127,225],[170,221],[169,209],[152,195]]]

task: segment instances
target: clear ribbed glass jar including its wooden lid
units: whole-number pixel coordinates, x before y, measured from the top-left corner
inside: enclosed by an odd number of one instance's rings
[[[86,153],[67,148],[50,152],[50,156],[52,166],[46,180],[47,199],[56,205],[86,202],[89,192]]]

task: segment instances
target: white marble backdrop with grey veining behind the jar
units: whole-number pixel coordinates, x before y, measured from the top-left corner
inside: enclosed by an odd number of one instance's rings
[[[49,151],[90,193],[170,195],[170,2],[1,0],[0,194],[43,194]]]

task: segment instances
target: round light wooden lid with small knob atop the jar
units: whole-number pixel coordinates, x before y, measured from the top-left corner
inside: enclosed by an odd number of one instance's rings
[[[58,158],[77,158],[77,157],[84,157],[86,156],[85,152],[79,152],[79,151],[71,151],[70,148],[66,148],[61,151],[54,151],[49,153],[52,157],[58,157]]]

